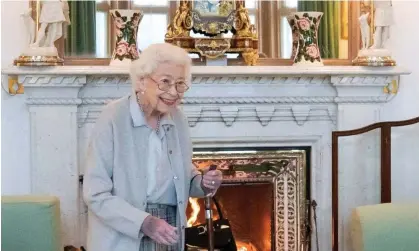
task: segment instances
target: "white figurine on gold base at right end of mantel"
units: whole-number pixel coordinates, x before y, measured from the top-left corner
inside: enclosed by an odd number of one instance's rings
[[[374,43],[369,46],[369,23],[370,13],[366,10],[359,17],[361,28],[362,48],[352,63],[359,66],[395,66],[391,52],[385,48],[390,37],[390,26],[393,25],[393,6],[391,0],[374,0]]]

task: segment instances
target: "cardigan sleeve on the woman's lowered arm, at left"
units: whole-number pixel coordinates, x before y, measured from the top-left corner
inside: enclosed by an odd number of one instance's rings
[[[111,193],[113,145],[111,119],[102,115],[88,148],[83,198],[89,210],[106,225],[132,238],[142,238],[141,225],[149,214]]]

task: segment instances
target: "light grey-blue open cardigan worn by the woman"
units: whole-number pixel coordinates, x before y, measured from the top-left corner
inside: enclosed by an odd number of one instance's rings
[[[89,208],[87,250],[136,251],[147,206],[147,142],[145,127],[134,127],[131,96],[105,106],[92,132],[86,158],[83,197]],[[192,164],[188,122],[180,109],[164,125],[177,194],[177,226],[183,250],[189,197],[203,197],[202,176]]]

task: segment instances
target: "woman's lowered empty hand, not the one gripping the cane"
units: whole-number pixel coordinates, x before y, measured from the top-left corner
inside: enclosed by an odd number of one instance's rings
[[[170,246],[179,241],[177,228],[151,215],[144,219],[141,232],[159,244]]]

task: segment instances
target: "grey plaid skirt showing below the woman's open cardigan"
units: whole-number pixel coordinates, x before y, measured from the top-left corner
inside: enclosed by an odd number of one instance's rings
[[[146,212],[154,217],[165,220],[170,225],[176,227],[176,206],[160,205],[160,204],[149,204],[147,205]],[[179,243],[173,246],[166,246],[163,244],[156,243],[153,239],[148,236],[144,236],[140,251],[179,251]]]

